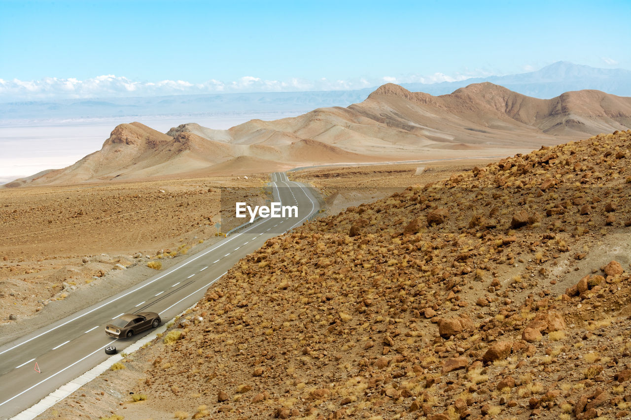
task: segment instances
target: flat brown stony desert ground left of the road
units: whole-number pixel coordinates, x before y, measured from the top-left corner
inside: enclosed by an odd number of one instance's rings
[[[215,242],[215,223],[221,221],[222,232],[242,223],[229,214],[220,218],[221,194],[256,201],[252,194],[268,181],[269,175],[261,174],[247,180],[0,190],[3,341],[13,336],[9,331],[20,332],[11,324],[42,310],[48,322],[60,318],[155,274],[146,267],[150,260],[164,269],[174,258]],[[64,300],[71,303],[62,304]]]

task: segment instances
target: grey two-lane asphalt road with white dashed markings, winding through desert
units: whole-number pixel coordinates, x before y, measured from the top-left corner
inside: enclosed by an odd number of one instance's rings
[[[273,173],[271,181],[274,199],[280,198],[283,206],[298,206],[297,218],[262,219],[165,272],[1,346],[0,419],[15,416],[107,359],[106,346],[112,344],[122,351],[151,332],[114,339],[105,335],[105,325],[112,319],[123,313],[152,311],[163,322],[170,320],[199,301],[239,259],[269,238],[304,223],[319,208],[309,189],[290,182],[285,173]],[[41,373],[34,370],[35,362]]]

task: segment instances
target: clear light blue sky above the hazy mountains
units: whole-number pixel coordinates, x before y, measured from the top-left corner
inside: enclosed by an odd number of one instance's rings
[[[523,73],[560,60],[628,69],[627,16],[628,0],[0,0],[0,90],[362,88]]]

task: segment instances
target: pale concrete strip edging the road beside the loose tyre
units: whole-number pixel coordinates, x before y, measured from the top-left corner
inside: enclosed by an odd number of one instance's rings
[[[95,378],[98,378],[99,375],[101,375],[103,372],[108,370],[112,365],[114,365],[114,363],[124,359],[121,356],[121,353],[130,354],[138,350],[140,347],[144,346],[144,344],[155,339],[158,334],[165,332],[167,330],[167,324],[169,324],[170,322],[175,322],[176,318],[181,317],[184,314],[184,312],[186,312],[189,309],[194,308],[197,305],[198,303],[196,302],[195,305],[192,305],[189,308],[186,308],[185,310],[180,312],[178,315],[176,315],[172,320],[169,320],[168,322],[163,322],[163,324],[160,325],[158,329],[153,330],[151,334],[145,335],[138,341],[133,342],[132,344],[129,344],[129,346],[125,347],[124,349],[121,350],[117,348],[118,353],[112,354],[112,356],[105,359],[104,361],[99,363],[97,366],[94,366],[93,368],[91,368],[90,370],[88,370],[86,373],[79,376],[78,378],[74,378],[70,382],[66,383],[66,385],[61,385],[61,387],[57,388],[56,390],[48,394],[46,397],[40,400],[40,402],[38,402],[35,405],[32,405],[32,407],[20,412],[19,414],[16,414],[15,416],[11,417],[10,420],[32,420],[35,417],[39,416],[44,411],[46,411],[53,405],[57,404],[57,402],[68,397],[68,395],[71,395],[74,391],[83,387],[83,385],[85,385],[86,383],[90,382],[91,380]]]

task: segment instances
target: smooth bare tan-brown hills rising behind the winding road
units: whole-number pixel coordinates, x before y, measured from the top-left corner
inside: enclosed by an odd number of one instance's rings
[[[233,172],[238,156],[291,167],[511,155],[629,126],[631,98],[601,91],[542,100],[477,83],[432,96],[388,83],[347,108],[254,119],[228,130],[182,124],[162,134],[135,122],[121,124],[100,151],[8,186],[185,176],[223,166]]]

